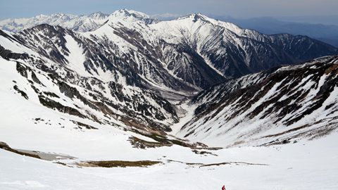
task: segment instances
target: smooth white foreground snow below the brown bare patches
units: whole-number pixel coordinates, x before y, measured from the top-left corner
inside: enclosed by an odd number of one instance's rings
[[[1,134],[0,134],[1,135]],[[3,137],[1,135],[1,137]],[[96,136],[94,136],[96,137]],[[27,138],[27,137],[26,137]],[[100,136],[100,139],[105,138]],[[13,140],[14,142],[15,140]],[[16,147],[27,147],[17,141]],[[66,139],[73,142],[74,140]],[[93,141],[89,139],[88,141]],[[95,142],[95,141],[94,141]],[[151,167],[98,168],[66,167],[0,150],[1,189],[337,189],[337,134],[317,141],[286,146],[227,148],[212,151],[218,156],[197,156],[184,148],[157,150],[144,156],[158,158],[164,164]],[[93,146],[96,144],[93,144]],[[102,145],[102,144],[101,144]],[[54,144],[58,146],[58,144]],[[61,146],[63,146],[61,144]],[[40,144],[41,149],[47,149]],[[67,149],[66,147],[64,147]],[[97,149],[103,148],[96,146]],[[118,144],[106,149],[115,150]],[[147,150],[153,152],[154,150]],[[144,152],[147,152],[144,151]],[[189,153],[190,152],[190,153]],[[139,153],[121,151],[125,159],[139,158]],[[97,156],[88,149],[87,155]],[[106,156],[115,159],[118,155]],[[161,157],[160,157],[161,156]],[[166,156],[165,158],[163,156]],[[267,165],[219,165],[199,167],[168,162],[175,158],[189,162],[247,162]],[[51,172],[53,171],[53,172]]]

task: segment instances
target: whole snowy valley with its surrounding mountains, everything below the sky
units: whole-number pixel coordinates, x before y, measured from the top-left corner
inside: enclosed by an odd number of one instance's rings
[[[199,13],[0,26],[1,190],[338,189],[332,46]]]

